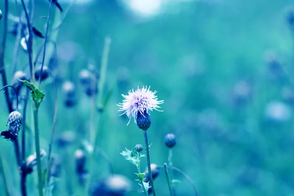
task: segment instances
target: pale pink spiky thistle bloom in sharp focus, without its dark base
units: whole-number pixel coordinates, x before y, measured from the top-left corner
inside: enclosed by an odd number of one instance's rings
[[[158,98],[155,96],[157,91],[152,92],[149,89],[150,87],[147,89],[147,86],[139,89],[138,86],[137,90],[132,89],[129,90],[128,95],[122,95],[124,100],[123,103],[118,104],[121,107],[119,111],[125,111],[123,114],[126,114],[130,119],[128,123],[130,123],[132,117],[136,123],[138,112],[144,116],[145,110],[147,114],[149,110],[152,111],[153,109],[160,111],[157,109],[160,108],[158,105],[163,103],[164,100],[157,100]]]

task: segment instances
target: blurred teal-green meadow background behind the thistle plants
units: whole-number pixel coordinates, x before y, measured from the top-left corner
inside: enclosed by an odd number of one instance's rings
[[[146,1],[137,3],[143,5]],[[105,36],[111,46],[104,95],[112,96],[96,125],[98,146],[110,157],[114,172],[132,181],[137,196],[136,168],[120,154],[124,148],[144,144],[144,134],[133,120],[119,116],[121,94],[137,86],[158,91],[164,112],[152,112],[148,129],[150,159],[168,161],[164,137],[177,136],[173,165],[195,182],[199,196],[294,196],[294,31],[287,21],[292,0],[166,0],[156,13],[139,14],[127,1],[93,0],[73,5],[56,40],[58,64],[58,113],[55,140],[66,131],[75,140],[66,147],[53,146],[62,157],[62,174],[53,195],[77,193],[74,151],[89,137],[91,100],[78,81],[88,60],[99,69]],[[129,1],[131,2],[131,0]],[[292,4],[291,4],[292,3]],[[3,0],[0,9],[3,12]],[[66,8],[67,2],[60,4]],[[148,4],[148,3],[147,3]],[[147,9],[146,4],[146,9]],[[15,2],[10,11],[17,16]],[[57,13],[55,13],[57,12]],[[45,32],[48,1],[35,0],[33,24]],[[53,7],[52,15],[59,10]],[[53,17],[51,24],[53,23]],[[9,21],[9,26],[13,24]],[[3,34],[0,21],[0,36]],[[294,28],[293,28],[294,29]],[[34,39],[34,52],[42,39]],[[15,37],[8,34],[5,56],[8,81],[12,78]],[[49,58],[47,58],[48,60]],[[17,70],[27,66],[20,51]],[[25,69],[28,74],[28,68]],[[64,106],[62,82],[77,85],[77,105]],[[54,107],[52,80],[44,82],[46,98],[40,107],[41,148],[48,151]],[[105,97],[105,96],[104,96]],[[0,127],[6,129],[8,112],[0,96]],[[22,110],[21,110],[22,111]],[[27,124],[32,124],[29,103]],[[96,115],[101,115],[97,112]],[[98,118],[96,118],[98,119]],[[27,131],[27,156],[34,152],[33,133]],[[20,132],[20,136],[21,136]],[[20,195],[19,174],[13,144],[0,141],[0,152],[13,195]],[[43,160],[45,168],[46,158]],[[146,168],[146,160],[142,169]],[[94,175],[109,175],[98,156]],[[36,195],[33,175],[27,178],[28,195]],[[190,184],[177,173],[177,196],[192,196]],[[2,181],[0,180],[0,184]],[[2,186],[2,185],[0,185]],[[168,196],[164,171],[155,180],[158,196]],[[4,195],[4,192],[0,193]]]

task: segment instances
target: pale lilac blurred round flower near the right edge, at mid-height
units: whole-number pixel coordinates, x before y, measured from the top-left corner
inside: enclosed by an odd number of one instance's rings
[[[268,103],[265,115],[267,120],[280,123],[289,121],[292,116],[292,112],[289,106],[285,103],[279,101],[272,101]]]

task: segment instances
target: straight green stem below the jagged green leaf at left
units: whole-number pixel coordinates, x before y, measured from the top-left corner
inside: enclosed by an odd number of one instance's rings
[[[35,145],[37,155],[37,168],[38,168],[38,188],[39,196],[43,196],[43,183],[42,183],[42,168],[41,168],[41,156],[40,156],[40,141],[39,141],[39,125],[38,125],[38,108],[34,108],[34,127],[35,127]]]

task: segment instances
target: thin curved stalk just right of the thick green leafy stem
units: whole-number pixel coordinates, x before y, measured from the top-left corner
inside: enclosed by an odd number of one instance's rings
[[[56,118],[57,118],[57,84],[56,81],[51,73],[51,76],[54,81],[54,88],[55,88],[55,106],[54,106],[54,117],[53,117],[53,123],[52,123],[52,130],[51,130],[51,139],[49,143],[49,150],[48,150],[48,166],[47,166],[47,179],[45,179],[45,196],[47,196],[47,185],[50,180],[50,168],[51,168],[51,151],[52,151],[52,143],[53,143],[53,136],[55,131],[55,124],[56,124]]]

